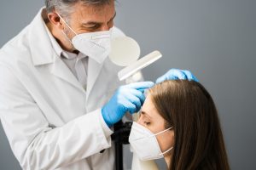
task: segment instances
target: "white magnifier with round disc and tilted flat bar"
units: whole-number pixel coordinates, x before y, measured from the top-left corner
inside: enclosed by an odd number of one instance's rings
[[[119,81],[131,77],[133,74],[137,73],[137,71],[154,63],[154,61],[162,57],[162,54],[160,54],[159,51],[154,51],[141,59],[138,59],[139,56],[140,47],[134,39],[131,37],[113,38],[109,58],[115,65],[125,66],[125,68],[118,73]]]

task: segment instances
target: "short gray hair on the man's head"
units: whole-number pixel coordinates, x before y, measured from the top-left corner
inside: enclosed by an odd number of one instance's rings
[[[101,6],[109,4],[111,0],[44,0],[48,13],[57,10],[63,17],[68,17],[73,12],[73,5],[82,2],[88,5]]]

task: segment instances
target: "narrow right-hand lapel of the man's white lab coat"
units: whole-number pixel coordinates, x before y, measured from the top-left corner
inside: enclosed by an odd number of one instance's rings
[[[104,63],[104,62],[103,62]],[[87,77],[87,91],[86,91],[86,100],[88,101],[89,95],[93,89],[93,86],[96,82],[96,79],[99,77],[100,72],[102,71],[102,64],[99,64],[94,59],[90,59],[88,63],[88,77]]]

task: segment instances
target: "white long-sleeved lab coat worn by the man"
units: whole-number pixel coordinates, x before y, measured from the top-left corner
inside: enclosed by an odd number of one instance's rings
[[[124,83],[121,68],[89,58],[85,92],[55,54],[41,12],[0,50],[0,117],[11,149],[24,169],[114,169],[101,108]]]

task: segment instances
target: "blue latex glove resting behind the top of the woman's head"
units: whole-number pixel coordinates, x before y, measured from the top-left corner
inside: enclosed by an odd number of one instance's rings
[[[195,82],[199,82],[198,79],[190,72],[190,71],[183,71],[179,69],[171,69],[170,71],[167,71],[166,74],[159,77],[156,80],[156,83],[164,82],[166,80],[193,80]]]

